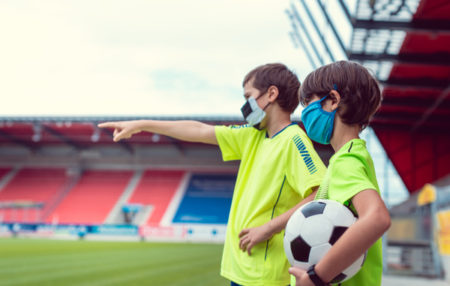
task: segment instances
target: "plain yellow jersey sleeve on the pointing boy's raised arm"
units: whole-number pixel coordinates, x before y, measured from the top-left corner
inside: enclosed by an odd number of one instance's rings
[[[215,126],[215,134],[224,161],[241,160],[246,138],[253,127],[248,125]]]

